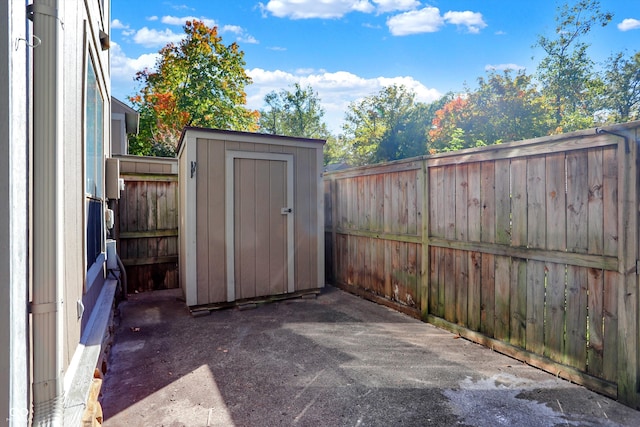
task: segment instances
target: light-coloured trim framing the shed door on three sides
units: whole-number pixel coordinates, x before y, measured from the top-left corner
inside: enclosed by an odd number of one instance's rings
[[[227,267],[227,301],[235,300],[235,212],[234,212],[234,168],[235,159],[274,160],[286,162],[287,166],[287,206],[293,209],[293,155],[282,153],[261,153],[255,151],[233,151],[225,153],[225,253]],[[287,215],[287,292],[295,291],[295,251],[293,216]]]

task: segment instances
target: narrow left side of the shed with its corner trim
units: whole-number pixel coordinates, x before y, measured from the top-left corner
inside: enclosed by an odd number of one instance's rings
[[[185,147],[186,152],[181,150],[181,154],[186,156],[184,181],[180,183],[180,190],[184,191],[184,209],[183,223],[181,233],[184,232],[184,259],[186,263],[185,271],[185,297],[187,305],[196,305],[198,303],[198,251],[197,251],[197,208],[198,199],[196,197],[196,184],[198,179],[198,170],[196,167],[196,173],[191,176],[191,162],[196,161],[197,139],[193,135],[188,136],[187,145]],[[197,166],[197,163],[196,163]],[[189,207],[187,209],[187,206]]]

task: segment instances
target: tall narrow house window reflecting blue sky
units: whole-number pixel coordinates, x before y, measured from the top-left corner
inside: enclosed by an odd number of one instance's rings
[[[87,61],[85,97],[85,194],[87,218],[87,269],[103,248],[104,101],[93,62]]]

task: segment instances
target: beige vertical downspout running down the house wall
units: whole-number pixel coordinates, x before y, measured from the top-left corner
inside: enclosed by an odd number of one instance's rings
[[[33,34],[32,340],[33,425],[64,424],[62,29],[59,0],[29,6]]]

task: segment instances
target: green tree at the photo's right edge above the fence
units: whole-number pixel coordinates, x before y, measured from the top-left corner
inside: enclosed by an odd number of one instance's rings
[[[623,52],[611,56],[604,85],[604,108],[612,112],[612,121],[622,123],[640,118],[640,51],[629,58]]]

